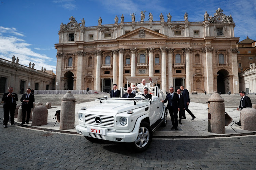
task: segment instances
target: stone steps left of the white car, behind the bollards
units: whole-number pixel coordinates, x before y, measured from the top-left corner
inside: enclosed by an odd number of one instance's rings
[[[61,103],[61,98],[64,95],[34,95],[35,97],[35,103],[38,102],[43,102],[43,104],[46,104],[47,102],[51,102],[52,106],[60,106]],[[90,102],[90,101],[94,101],[95,99],[98,98],[102,98],[105,95],[94,95],[94,94],[89,94],[89,95],[73,95],[75,98],[76,103],[84,103],[84,102]],[[110,95],[108,95],[110,97]],[[18,99],[19,101],[17,102],[17,104],[21,103],[20,99],[21,99],[22,95],[18,94]]]

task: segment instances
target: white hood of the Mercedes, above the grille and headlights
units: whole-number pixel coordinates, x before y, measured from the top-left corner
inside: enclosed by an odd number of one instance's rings
[[[136,108],[149,106],[148,102],[136,103],[101,103],[86,109],[86,112],[122,113]]]

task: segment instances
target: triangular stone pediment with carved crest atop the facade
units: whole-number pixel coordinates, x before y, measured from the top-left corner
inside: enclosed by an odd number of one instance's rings
[[[128,40],[128,39],[167,39],[167,35],[160,34],[150,29],[140,27],[133,30],[125,35],[117,38],[117,40]]]

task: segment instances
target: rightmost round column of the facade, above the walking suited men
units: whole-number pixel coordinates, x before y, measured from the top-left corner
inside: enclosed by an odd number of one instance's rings
[[[192,48],[185,48],[185,60],[186,60],[186,89],[189,93],[191,93],[191,67],[190,67],[190,51]]]

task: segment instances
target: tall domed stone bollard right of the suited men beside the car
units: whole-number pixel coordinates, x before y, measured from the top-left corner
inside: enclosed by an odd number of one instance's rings
[[[224,134],[225,132],[225,104],[218,93],[213,93],[208,99],[208,132]]]

